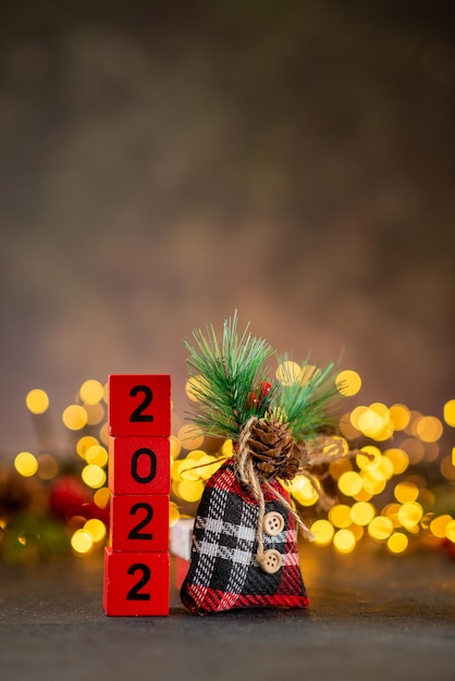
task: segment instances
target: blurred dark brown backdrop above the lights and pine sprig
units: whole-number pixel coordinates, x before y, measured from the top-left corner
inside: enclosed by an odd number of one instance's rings
[[[452,1],[3,2],[0,451],[238,308],[360,403],[454,394]]]

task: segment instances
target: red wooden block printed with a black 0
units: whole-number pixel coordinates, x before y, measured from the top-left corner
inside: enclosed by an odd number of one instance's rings
[[[109,437],[112,494],[169,494],[169,437]]]

